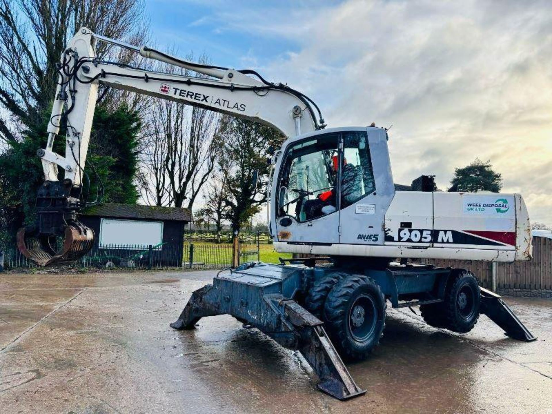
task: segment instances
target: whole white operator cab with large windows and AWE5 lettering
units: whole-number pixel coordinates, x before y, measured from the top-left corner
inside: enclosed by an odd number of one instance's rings
[[[356,243],[362,235],[362,244],[383,243],[384,214],[394,194],[384,129],[336,128],[295,137],[284,143],[276,171],[272,222],[278,241]],[[346,235],[345,227],[354,234]]]

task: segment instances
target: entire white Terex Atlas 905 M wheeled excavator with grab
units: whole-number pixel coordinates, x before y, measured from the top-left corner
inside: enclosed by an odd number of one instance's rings
[[[103,61],[95,56],[96,41],[208,78]],[[45,174],[38,219],[17,237],[20,251],[36,263],[75,261],[92,246],[93,232],[78,221],[78,212],[87,204],[83,168],[98,84],[104,84],[259,121],[288,136],[273,155],[269,228],[277,251],[308,257],[219,272],[213,284],[192,294],[173,328],[230,314],[299,350],[319,375],[319,388],[338,399],[365,392],[339,355],[368,356],[383,333],[388,301],[392,307],[420,306],[434,327],[468,332],[483,313],[508,336],[535,339],[468,270],[407,263],[529,260],[530,225],[521,195],[437,192],[431,180],[421,191],[397,191],[385,129],[325,129],[311,99],[252,70],[199,65],[82,28],[63,52],[59,72],[47,144],[38,151]],[[52,151],[61,126],[65,156]],[[65,236],[59,250],[57,236]]]

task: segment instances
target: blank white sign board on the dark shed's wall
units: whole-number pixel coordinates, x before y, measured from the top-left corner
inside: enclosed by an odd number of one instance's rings
[[[108,245],[129,246],[128,248],[149,245],[156,246],[163,241],[162,221],[136,221],[102,219],[99,247]],[[157,247],[157,249],[160,249]]]

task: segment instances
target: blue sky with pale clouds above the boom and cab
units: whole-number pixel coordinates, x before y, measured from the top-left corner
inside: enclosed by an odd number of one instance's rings
[[[388,127],[395,183],[490,160],[552,225],[549,1],[146,0],[156,46],[254,68],[328,127]]]

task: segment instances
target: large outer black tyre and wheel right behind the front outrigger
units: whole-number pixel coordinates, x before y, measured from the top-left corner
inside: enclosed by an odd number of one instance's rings
[[[349,275],[333,286],[324,315],[333,344],[348,360],[368,357],[385,328],[385,298],[378,284]]]

